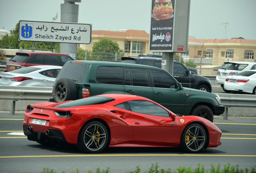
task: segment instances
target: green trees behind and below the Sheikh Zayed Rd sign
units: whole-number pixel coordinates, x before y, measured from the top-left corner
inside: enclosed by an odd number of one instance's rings
[[[0,46],[8,46],[10,48],[20,48],[28,49],[33,47],[33,42],[31,41],[19,41],[19,23],[16,24],[14,30],[10,31],[10,36],[6,34],[0,40]],[[35,48],[45,49],[52,51],[60,50],[60,43],[56,42],[35,42]]]

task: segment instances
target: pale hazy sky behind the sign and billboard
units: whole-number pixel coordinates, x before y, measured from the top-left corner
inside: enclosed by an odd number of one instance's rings
[[[204,39],[243,37],[256,40],[256,0],[191,0],[189,36]],[[0,0],[0,29],[12,30],[19,20],[52,22],[64,0]],[[81,0],[78,23],[93,30],[150,32],[151,0]]]

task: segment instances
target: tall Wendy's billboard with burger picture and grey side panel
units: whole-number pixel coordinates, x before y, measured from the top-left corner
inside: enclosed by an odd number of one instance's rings
[[[151,0],[150,52],[186,52],[190,0]]]

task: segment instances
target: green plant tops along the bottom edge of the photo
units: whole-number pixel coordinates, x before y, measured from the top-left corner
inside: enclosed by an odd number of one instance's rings
[[[57,173],[57,171],[54,171],[53,169],[43,169],[43,172],[41,173]],[[64,171],[62,173],[65,173]],[[76,169],[76,171],[72,171],[71,173],[80,173],[78,168]],[[100,169],[98,168],[96,171],[91,171],[88,170],[86,173],[111,173],[109,172],[109,167],[106,170],[100,171]],[[219,163],[217,167],[214,167],[213,164],[211,165],[210,170],[205,170],[204,169],[204,165],[200,165],[198,164],[198,167],[194,170],[191,169],[191,167],[178,167],[177,170],[171,171],[171,169],[160,169],[158,164],[156,163],[155,165],[152,164],[151,167],[149,168],[148,171],[146,172],[141,172],[140,170],[140,166],[136,167],[135,171],[132,172],[126,172],[126,173],[256,173],[255,170],[255,166],[251,167],[251,169],[239,169],[239,166],[236,165],[234,166],[230,166],[230,164],[228,163],[228,165],[224,165],[224,168],[221,169],[221,164]]]

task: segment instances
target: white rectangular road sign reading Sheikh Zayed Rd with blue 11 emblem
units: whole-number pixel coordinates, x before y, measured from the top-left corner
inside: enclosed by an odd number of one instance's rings
[[[91,24],[19,21],[19,40],[91,44]]]

